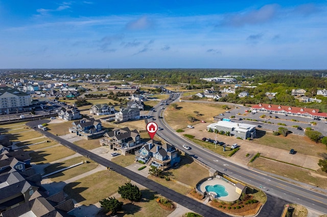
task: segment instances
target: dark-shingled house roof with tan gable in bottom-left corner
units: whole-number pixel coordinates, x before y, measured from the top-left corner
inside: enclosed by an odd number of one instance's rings
[[[30,199],[18,206],[1,213],[2,217],[11,216],[68,216],[67,212],[75,209],[72,199],[66,200],[63,192],[48,196],[35,191]]]

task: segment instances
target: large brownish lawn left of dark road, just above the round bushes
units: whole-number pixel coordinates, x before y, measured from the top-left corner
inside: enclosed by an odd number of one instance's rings
[[[110,197],[118,187],[127,182],[127,178],[114,171],[100,171],[90,176],[68,183],[63,191],[76,202],[83,205],[95,204]]]

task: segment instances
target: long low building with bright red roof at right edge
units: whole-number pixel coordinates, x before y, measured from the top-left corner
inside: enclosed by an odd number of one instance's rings
[[[286,114],[291,116],[307,117],[307,118],[327,118],[327,113],[319,112],[319,110],[315,108],[293,107],[287,105],[259,103],[258,105],[253,105],[251,107],[251,111],[270,112],[272,114],[282,114],[282,115]]]

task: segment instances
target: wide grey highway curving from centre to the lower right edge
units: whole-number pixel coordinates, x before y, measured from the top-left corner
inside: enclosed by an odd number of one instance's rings
[[[178,94],[171,95],[167,102],[171,103],[179,98]],[[152,113],[157,118],[159,126],[165,126],[164,130],[157,131],[159,137],[166,140],[168,143],[173,144],[179,149],[182,149],[183,144],[189,145],[192,149],[184,150],[186,153],[194,156],[198,160],[204,162],[211,168],[218,171],[224,171],[225,174],[237,180],[243,181],[255,187],[261,188],[266,194],[272,197],[278,197],[291,203],[301,204],[311,209],[317,210],[322,213],[327,213],[327,196],[319,194],[310,189],[303,188],[302,186],[295,185],[273,176],[268,176],[263,172],[253,171],[243,165],[231,162],[229,159],[215,154],[207,149],[204,149],[189,140],[186,140],[172,128],[165,123],[164,119],[158,117],[163,115],[164,112],[160,110],[160,105],[155,106],[157,113]],[[305,185],[305,184],[303,184]]]

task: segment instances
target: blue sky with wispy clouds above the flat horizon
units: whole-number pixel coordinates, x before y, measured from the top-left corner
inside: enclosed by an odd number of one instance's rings
[[[0,68],[327,69],[327,1],[0,0]]]

